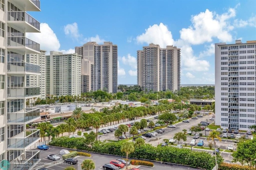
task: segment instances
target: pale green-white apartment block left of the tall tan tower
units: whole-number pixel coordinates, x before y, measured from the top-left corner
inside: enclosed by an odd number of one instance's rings
[[[46,56],[46,95],[81,95],[81,57],[50,51]]]

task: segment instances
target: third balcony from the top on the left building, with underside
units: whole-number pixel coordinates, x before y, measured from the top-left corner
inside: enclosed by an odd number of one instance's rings
[[[39,54],[40,44],[26,37],[8,37],[8,49],[20,54]]]

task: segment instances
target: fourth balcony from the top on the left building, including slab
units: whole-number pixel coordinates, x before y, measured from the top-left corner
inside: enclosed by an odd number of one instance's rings
[[[26,62],[8,62],[8,74],[41,75],[39,65]]]

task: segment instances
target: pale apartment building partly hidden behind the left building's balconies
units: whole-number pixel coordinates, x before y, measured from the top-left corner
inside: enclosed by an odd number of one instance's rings
[[[39,79],[37,79],[37,76],[34,75],[27,75],[26,77],[26,83],[27,86],[35,86],[35,84],[38,84],[39,82],[39,87],[40,87],[40,99],[45,99],[46,98],[46,75],[45,75],[45,70],[46,70],[46,58],[45,58],[45,50],[40,50],[40,54],[27,54],[26,55],[26,62],[28,63],[33,63],[40,65],[40,75]],[[32,103],[32,101],[30,101]]]

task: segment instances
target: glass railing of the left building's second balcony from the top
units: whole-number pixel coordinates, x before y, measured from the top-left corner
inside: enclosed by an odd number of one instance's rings
[[[27,12],[15,11],[8,12],[8,21],[26,21],[30,25],[40,30],[40,22],[30,16]]]

